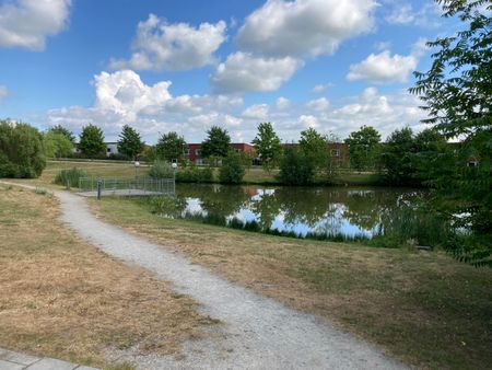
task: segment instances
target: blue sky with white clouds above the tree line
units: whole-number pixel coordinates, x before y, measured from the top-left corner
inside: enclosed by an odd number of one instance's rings
[[[250,142],[309,127],[415,131],[425,43],[459,28],[430,0],[0,0],[0,119],[148,143],[211,126]]]

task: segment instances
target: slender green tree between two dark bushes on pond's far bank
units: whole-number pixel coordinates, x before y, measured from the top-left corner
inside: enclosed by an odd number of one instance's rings
[[[282,155],[282,144],[270,123],[261,123],[258,125],[258,134],[253,140],[253,143],[256,147],[263,167],[269,171],[276,166]]]

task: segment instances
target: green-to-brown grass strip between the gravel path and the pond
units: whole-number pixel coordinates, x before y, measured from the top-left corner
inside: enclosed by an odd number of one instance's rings
[[[409,365],[492,363],[492,271],[441,252],[279,238],[163,219],[118,198],[92,201],[109,222],[296,309],[325,316]]]

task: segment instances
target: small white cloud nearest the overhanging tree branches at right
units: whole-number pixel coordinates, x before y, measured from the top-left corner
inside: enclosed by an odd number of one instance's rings
[[[414,55],[390,55],[389,50],[371,54],[360,63],[351,65],[347,74],[349,81],[366,80],[372,83],[406,82],[415,70],[418,58]]]

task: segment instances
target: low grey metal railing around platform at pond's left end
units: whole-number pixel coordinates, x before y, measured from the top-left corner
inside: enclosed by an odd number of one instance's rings
[[[174,178],[118,178],[118,177],[80,177],[79,188],[81,193],[96,196],[98,184],[101,195],[156,195],[174,194],[176,185]]]

